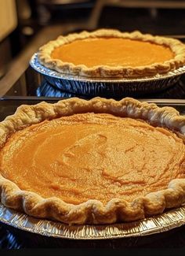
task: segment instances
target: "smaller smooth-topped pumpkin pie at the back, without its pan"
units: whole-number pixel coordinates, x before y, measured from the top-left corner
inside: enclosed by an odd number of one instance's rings
[[[185,45],[177,39],[99,29],[60,35],[38,50],[49,69],[72,76],[143,77],[165,74],[185,64]]]

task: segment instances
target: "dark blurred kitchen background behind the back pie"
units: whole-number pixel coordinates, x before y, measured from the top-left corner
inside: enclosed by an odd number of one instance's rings
[[[45,35],[44,28],[48,28]],[[29,43],[36,49],[60,33],[95,28],[180,37],[185,34],[185,1],[1,0],[1,74]],[[39,33],[42,39],[31,42]]]

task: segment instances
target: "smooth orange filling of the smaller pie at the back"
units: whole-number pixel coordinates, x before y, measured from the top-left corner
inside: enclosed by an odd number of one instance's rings
[[[132,39],[78,39],[56,47],[51,57],[74,65],[140,67],[174,58],[168,46]]]

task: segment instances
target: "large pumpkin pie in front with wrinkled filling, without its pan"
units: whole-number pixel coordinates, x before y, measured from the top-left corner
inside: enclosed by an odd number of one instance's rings
[[[0,123],[7,207],[67,224],[136,221],[185,202],[185,117],[93,98],[20,106]]]

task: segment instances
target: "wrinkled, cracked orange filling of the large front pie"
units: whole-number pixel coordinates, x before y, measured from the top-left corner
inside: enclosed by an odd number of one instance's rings
[[[132,202],[185,178],[185,147],[176,133],[144,121],[82,113],[14,133],[0,163],[2,176],[44,198]]]

